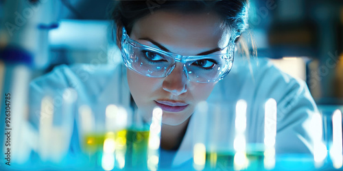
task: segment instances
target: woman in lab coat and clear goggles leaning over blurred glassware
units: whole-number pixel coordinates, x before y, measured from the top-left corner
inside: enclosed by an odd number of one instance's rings
[[[305,142],[311,143],[311,135],[305,121],[317,109],[305,83],[265,60],[250,70],[239,56],[229,73],[239,36],[247,27],[248,6],[248,0],[117,1],[115,35],[126,68],[61,66],[32,83],[32,97],[40,101],[48,90],[71,87],[78,92],[77,106],[134,104],[145,121],[151,120],[154,107],[161,107],[161,148],[178,150],[171,160],[174,166],[191,157],[183,153],[192,148],[191,116],[211,92],[209,101],[225,101],[228,107],[239,99],[247,101],[247,132],[252,133],[248,142],[263,142],[263,107],[274,98],[280,116],[276,152],[308,152]],[[35,115],[31,120],[38,122]]]

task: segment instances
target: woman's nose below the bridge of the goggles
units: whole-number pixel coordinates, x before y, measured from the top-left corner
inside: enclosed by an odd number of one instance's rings
[[[174,70],[165,77],[162,88],[174,96],[178,96],[187,92],[187,81],[188,79],[183,71],[183,65],[176,63]]]

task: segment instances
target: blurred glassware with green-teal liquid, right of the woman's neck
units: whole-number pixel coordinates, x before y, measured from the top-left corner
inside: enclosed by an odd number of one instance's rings
[[[267,101],[265,107],[264,142],[253,142],[252,132],[246,132],[247,103],[237,101],[230,109],[226,103],[198,105],[194,116],[193,167],[196,170],[263,170],[275,165],[276,103]],[[235,114],[230,114],[235,111]],[[206,129],[200,129],[206,125]],[[263,130],[262,129],[262,130]],[[247,142],[248,140],[248,142]],[[201,147],[202,146],[202,147]],[[203,149],[202,149],[203,148]],[[203,150],[201,154],[201,150]],[[206,154],[206,155],[205,155]],[[200,159],[200,156],[204,159]],[[203,161],[202,163],[200,161]]]

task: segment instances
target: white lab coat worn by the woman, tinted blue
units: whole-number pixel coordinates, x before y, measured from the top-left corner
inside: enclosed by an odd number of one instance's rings
[[[294,79],[282,73],[271,62],[263,58],[248,60],[236,57],[233,69],[217,83],[209,104],[222,104],[221,120],[227,122],[222,128],[220,139],[232,146],[235,134],[235,105],[239,99],[244,99],[247,108],[247,143],[262,143],[264,138],[264,105],[269,98],[277,102],[277,134],[276,153],[310,153],[312,136],[309,131],[309,120],[318,112],[304,81]],[[58,66],[51,73],[32,81],[30,85],[30,116],[29,120],[38,125],[41,98],[50,94],[55,101],[62,98],[64,88],[74,88],[78,92],[75,102],[77,107],[90,105],[97,107],[97,114],[105,114],[105,107],[110,103],[130,105],[130,92],[126,80],[126,68],[123,64],[117,66],[91,66],[76,64],[73,66]],[[57,93],[56,93],[57,92]],[[62,111],[61,106],[54,105],[56,114]],[[38,112],[38,111],[43,112]],[[211,113],[211,112],[210,112]],[[180,166],[192,157],[193,144],[200,135],[203,125],[196,120],[198,114],[191,116],[185,137],[176,152],[172,166]],[[209,125],[207,125],[209,127]],[[72,140],[77,140],[73,138]],[[222,142],[223,143],[223,142]],[[231,143],[231,144],[230,144]],[[224,143],[225,144],[225,143]]]

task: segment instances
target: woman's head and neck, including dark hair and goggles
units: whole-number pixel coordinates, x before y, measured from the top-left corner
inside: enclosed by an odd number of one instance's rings
[[[128,85],[134,102],[146,120],[151,120],[154,107],[164,111],[162,148],[178,148],[196,105],[206,100],[232,66],[234,41],[245,27],[248,4],[223,1],[224,8],[219,8],[220,3],[165,1],[150,14],[145,2],[119,1],[113,12],[117,44],[128,66]],[[222,16],[217,13],[220,10],[224,11]],[[232,11],[237,13],[227,14]],[[190,55],[198,56],[191,60],[187,57]],[[184,63],[174,63],[173,57],[182,58]],[[154,70],[156,67],[162,69]]]

